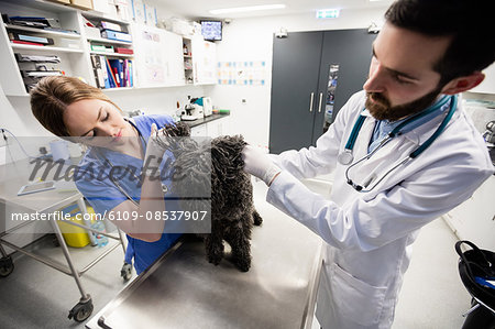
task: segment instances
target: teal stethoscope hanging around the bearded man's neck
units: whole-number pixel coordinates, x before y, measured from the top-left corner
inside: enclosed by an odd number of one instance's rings
[[[408,124],[428,116],[431,112],[437,111],[438,109],[440,109],[441,107],[443,107],[446,103],[448,103],[450,101],[450,109],[449,112],[447,113],[447,116],[443,118],[443,121],[440,123],[440,125],[437,128],[437,130],[435,131],[435,133],[421,145],[419,145],[418,147],[416,147],[409,155],[407,155],[405,158],[403,158],[398,164],[396,164],[394,167],[392,167],[388,172],[385,173],[385,175],[383,175],[380,179],[375,180],[373,175],[370,176],[369,179],[366,179],[366,182],[364,182],[362,185],[355,184],[350,177],[349,177],[349,171],[353,167],[355,167],[358,164],[362,163],[365,160],[369,160],[370,157],[373,156],[373,154],[375,154],[380,149],[382,149],[383,146],[385,146],[395,136],[399,136],[403,134],[404,132],[404,128],[407,127]],[[380,144],[369,154],[366,154],[365,156],[363,156],[362,158],[358,160],[356,162],[352,163],[354,160],[354,156],[352,154],[352,150],[354,149],[354,144],[355,141],[358,139],[358,135],[360,133],[361,128],[363,127],[364,120],[366,119],[365,116],[360,114],[360,117],[358,118],[358,120],[354,123],[354,127],[352,128],[351,134],[348,139],[348,142],[345,143],[345,147],[344,150],[337,156],[337,160],[340,164],[342,165],[349,165],[349,167],[345,169],[345,179],[348,182],[349,185],[351,185],[355,190],[361,191],[361,193],[367,193],[371,191],[373,188],[375,188],[388,174],[391,174],[393,171],[395,171],[398,166],[405,164],[406,162],[416,158],[419,154],[421,154],[422,152],[425,152],[426,149],[428,149],[428,146],[431,145],[431,143],[435,142],[435,140],[438,139],[438,136],[443,132],[443,130],[446,129],[447,124],[449,123],[450,119],[452,118],[453,113],[455,112],[458,106],[458,97],[457,96],[450,96],[450,97],[443,97],[440,101],[438,101],[436,105],[433,105],[432,107],[428,108],[425,111],[421,111],[419,113],[416,113],[414,116],[411,116],[410,118],[408,118],[407,120],[405,120],[404,122],[402,122],[400,124],[398,124],[396,128],[394,128],[386,138],[384,138]],[[364,111],[365,109],[363,109]],[[375,184],[371,187],[370,184],[375,180]]]

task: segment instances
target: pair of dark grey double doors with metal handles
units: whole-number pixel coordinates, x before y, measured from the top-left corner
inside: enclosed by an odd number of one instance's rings
[[[274,39],[270,152],[314,145],[366,80],[375,34],[294,32]]]

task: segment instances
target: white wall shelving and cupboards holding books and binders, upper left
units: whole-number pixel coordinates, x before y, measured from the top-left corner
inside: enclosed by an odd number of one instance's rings
[[[20,70],[26,69],[31,64],[18,63],[15,53],[33,56],[56,55],[61,61],[52,64],[54,70],[64,72],[67,76],[84,78],[94,87],[108,86],[108,84],[103,84],[108,80],[105,81],[106,75],[102,69],[110,64],[109,62],[117,66],[117,69],[123,62],[122,69],[127,69],[124,80],[127,81],[132,75],[134,85],[101,89],[109,92],[133,92],[129,90],[198,86],[212,83],[210,78],[212,65],[210,64],[216,64],[216,45],[205,42],[199,36],[183,37],[155,26],[122,21],[97,11],[82,11],[46,0],[0,0],[0,12],[8,13],[9,17],[47,17],[57,20],[62,29],[62,31],[51,31],[50,29],[0,23],[0,59],[6,63],[0,75],[0,85],[6,96],[29,97],[26,89],[32,88],[36,83],[36,79],[21,75]],[[132,36],[132,42],[101,37],[99,33],[85,29],[84,19],[88,19],[97,26],[101,24],[101,21],[119,24],[123,33]],[[9,40],[9,32],[21,33],[23,31],[24,34],[33,36],[51,37],[54,45],[20,44]],[[186,53],[183,48],[185,44],[188,48]],[[133,54],[94,51],[92,45],[128,48],[132,50]],[[150,48],[155,51],[150,52]],[[110,61],[107,62],[102,56]],[[150,58],[157,65],[150,67]],[[135,74],[136,70],[140,72],[140,75]],[[123,86],[129,85],[123,84]]]

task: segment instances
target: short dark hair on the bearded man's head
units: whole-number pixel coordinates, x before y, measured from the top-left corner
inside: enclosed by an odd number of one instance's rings
[[[482,70],[495,61],[495,0],[397,0],[385,13],[393,25],[428,36],[451,36],[433,69],[440,85]]]

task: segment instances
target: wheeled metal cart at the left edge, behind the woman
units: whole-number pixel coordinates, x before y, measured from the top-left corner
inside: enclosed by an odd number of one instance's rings
[[[79,209],[81,210],[81,213],[87,213],[86,204],[84,201],[82,195],[75,188],[73,190],[68,191],[57,191],[56,189],[53,190],[46,190],[41,191],[35,195],[25,195],[25,196],[18,196],[16,193],[20,189],[22,185],[25,184],[25,177],[28,177],[26,173],[29,173],[30,164],[28,161],[24,162],[16,162],[14,164],[8,164],[0,166],[0,177],[2,178],[0,182],[0,202],[6,205],[6,209],[9,207],[15,208],[18,211],[25,211],[25,212],[38,212],[38,213],[52,213],[58,209],[62,209],[68,205],[72,205],[74,202],[77,202],[79,206]],[[2,220],[7,222],[7,212],[0,213],[1,217],[4,217]],[[95,232],[98,234],[103,234],[110,239],[118,240],[119,243],[109,246],[103,253],[98,255],[95,260],[92,260],[89,264],[87,264],[81,270],[77,270],[73,259],[70,256],[69,250],[67,248],[67,244],[64,240],[64,237],[62,235],[61,229],[58,224],[55,222],[55,220],[48,220],[51,223],[51,227],[53,229],[53,232],[55,233],[57,241],[62,248],[62,251],[64,253],[64,256],[67,261],[67,266],[59,265],[52,260],[47,257],[43,257],[40,255],[36,255],[24,248],[20,248],[19,245],[15,245],[9,241],[6,241],[4,237],[9,233],[12,233],[16,230],[20,230],[21,228],[31,224],[31,221],[24,221],[21,224],[15,226],[14,228],[10,229],[2,229],[0,226],[0,277],[6,277],[10,275],[14,270],[14,264],[12,261],[12,257],[7,254],[3,245],[9,246],[18,252],[21,252],[52,268],[58,270],[62,273],[65,273],[67,275],[70,275],[76,281],[77,287],[80,292],[81,298],[79,303],[77,303],[70,310],[68,318],[81,322],[86,320],[92,312],[94,305],[91,300],[91,296],[82,287],[82,284],[80,282],[80,276],[86,273],[89,268],[91,268],[95,264],[97,264],[99,261],[101,261],[106,255],[108,255],[110,252],[112,252],[119,245],[122,245],[123,253],[125,254],[125,244],[122,238],[122,232],[118,229],[118,235],[100,232],[98,230],[95,230],[88,226],[79,224],[73,221],[64,221],[66,223],[69,223],[72,226],[80,227],[85,230],[88,230],[90,232]],[[86,221],[82,221],[86,222]],[[1,222],[0,222],[1,224]],[[7,226],[6,226],[7,228]],[[3,231],[3,232],[2,232]],[[92,239],[92,234],[89,233],[90,238]],[[95,241],[91,240],[91,244],[95,245]],[[122,268],[121,268],[121,276],[123,277],[124,282],[129,281],[132,276],[132,265],[124,262]]]

